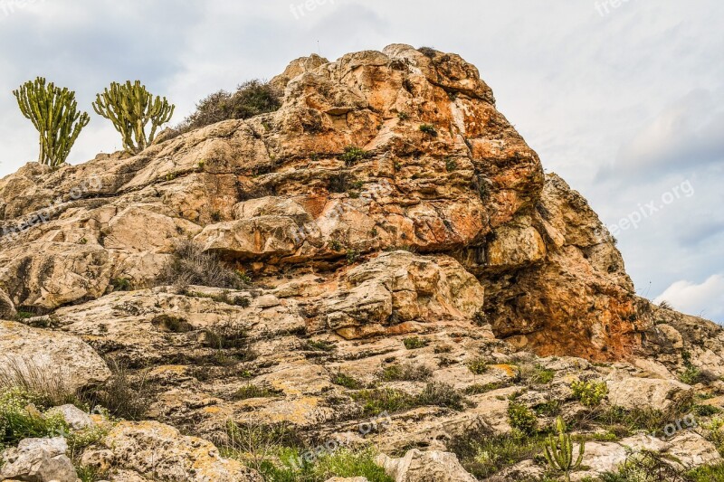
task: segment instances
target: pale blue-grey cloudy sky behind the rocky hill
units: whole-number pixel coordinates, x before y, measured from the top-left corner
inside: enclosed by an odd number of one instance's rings
[[[547,171],[586,196],[639,294],[723,323],[722,24],[719,0],[0,0],[0,175],[37,156],[11,91],[38,75],[91,114],[76,164],[120,148],[90,108],[113,80],[167,96],[176,123],[312,52],[432,46],[475,64]]]

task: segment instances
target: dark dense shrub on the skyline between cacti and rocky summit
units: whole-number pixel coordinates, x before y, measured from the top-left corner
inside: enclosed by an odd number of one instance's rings
[[[281,107],[282,92],[262,80],[249,80],[235,92],[219,90],[196,104],[196,111],[176,129],[188,132],[228,119],[252,118]]]

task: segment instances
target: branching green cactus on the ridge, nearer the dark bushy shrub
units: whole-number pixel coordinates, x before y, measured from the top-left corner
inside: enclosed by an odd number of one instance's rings
[[[138,154],[148,147],[159,126],[166,124],[174,115],[176,106],[166,98],[154,97],[141,85],[113,82],[110,88],[96,96],[93,109],[104,118],[110,119],[113,127],[123,137],[123,149],[129,154]],[[151,122],[151,131],[146,135],[146,125]]]

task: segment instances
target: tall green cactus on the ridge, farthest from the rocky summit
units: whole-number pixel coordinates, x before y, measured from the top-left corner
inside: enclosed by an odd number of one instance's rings
[[[33,122],[40,135],[38,162],[57,167],[71,153],[75,139],[90,122],[86,112],[78,110],[75,92],[45,84],[43,77],[28,80],[13,90],[20,111]]]

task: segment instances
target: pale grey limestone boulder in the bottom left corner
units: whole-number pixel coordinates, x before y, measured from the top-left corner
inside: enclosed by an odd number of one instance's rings
[[[32,482],[75,482],[77,476],[65,452],[68,444],[62,437],[24,439],[16,449],[6,449],[0,478]]]

